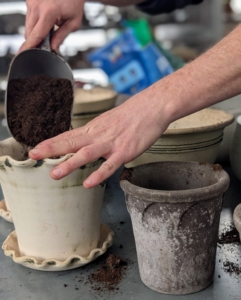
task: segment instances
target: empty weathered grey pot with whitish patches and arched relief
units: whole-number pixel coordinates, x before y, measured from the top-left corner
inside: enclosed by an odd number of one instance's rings
[[[227,173],[198,162],[150,163],[125,169],[120,184],[144,284],[168,294],[206,288],[214,275]]]

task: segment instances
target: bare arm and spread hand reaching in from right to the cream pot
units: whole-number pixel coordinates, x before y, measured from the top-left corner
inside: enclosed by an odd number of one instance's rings
[[[33,159],[76,153],[52,172],[60,179],[99,157],[99,170],[84,182],[94,187],[149,148],[168,125],[188,114],[241,93],[241,26],[183,69],[135,95],[86,126],[47,140]]]

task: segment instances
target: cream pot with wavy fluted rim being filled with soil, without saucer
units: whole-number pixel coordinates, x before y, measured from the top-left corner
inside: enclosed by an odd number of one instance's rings
[[[71,156],[24,160],[14,139],[0,143],[0,181],[22,255],[61,261],[88,256],[97,246],[104,184],[85,189],[83,181],[102,161],[53,180],[51,169]]]

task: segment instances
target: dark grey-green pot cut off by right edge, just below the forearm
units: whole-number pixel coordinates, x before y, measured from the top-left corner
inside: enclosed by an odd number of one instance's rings
[[[241,180],[241,115],[236,119],[236,127],[230,147],[230,163],[234,174]]]

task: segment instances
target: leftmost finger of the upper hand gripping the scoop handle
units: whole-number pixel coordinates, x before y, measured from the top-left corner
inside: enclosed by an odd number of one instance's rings
[[[41,17],[19,51],[37,47],[55,24],[54,18]]]

